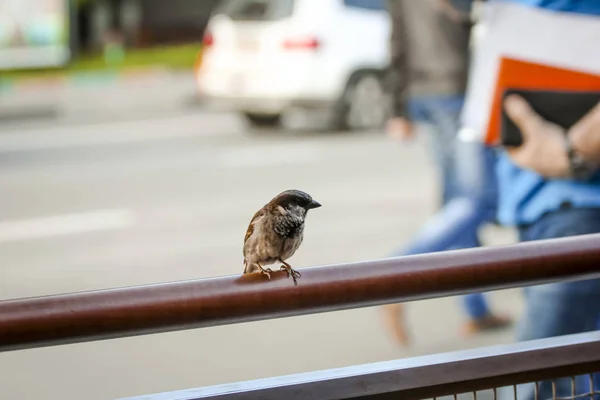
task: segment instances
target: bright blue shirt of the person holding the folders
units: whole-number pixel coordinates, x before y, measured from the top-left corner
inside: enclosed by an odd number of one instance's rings
[[[496,1],[600,16],[600,0]],[[496,172],[499,186],[498,220],[504,225],[528,224],[564,205],[600,207],[600,172],[587,182],[545,180],[534,172],[517,167],[505,152],[499,156]]]

